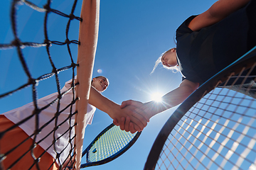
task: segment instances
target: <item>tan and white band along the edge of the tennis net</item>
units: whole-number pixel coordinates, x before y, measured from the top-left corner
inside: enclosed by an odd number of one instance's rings
[[[79,100],[76,103],[76,137],[75,137],[75,166],[80,169],[82,158],[82,142],[85,134],[85,120],[87,103],[90,95],[90,82],[92,80],[92,69],[94,65],[99,30],[100,0],[83,0],[79,29],[77,79],[79,85],[76,87],[76,95]]]

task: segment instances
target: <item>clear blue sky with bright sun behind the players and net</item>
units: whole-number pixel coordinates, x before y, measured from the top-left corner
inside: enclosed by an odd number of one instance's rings
[[[92,77],[103,75],[110,80],[110,86],[103,93],[112,101],[134,99],[150,101],[151,94],[164,95],[175,89],[181,82],[181,74],[167,71],[161,66],[150,75],[154,62],[162,52],[175,47],[175,30],[188,16],[206,11],[215,1],[209,0],[140,0],[100,2],[100,30]],[[43,6],[46,0],[35,0],[34,4]],[[0,43],[10,43],[14,39],[10,24],[11,0],[0,2]],[[73,2],[53,0],[51,8],[70,13]],[[78,1],[75,15],[80,16],[82,0]],[[23,42],[43,42],[44,13],[33,11],[25,5],[18,6],[18,35]],[[50,40],[65,41],[67,18],[50,13],[48,18],[48,37]],[[78,40],[79,21],[72,21],[70,40]],[[77,45],[70,45],[74,60],[77,60]],[[70,64],[66,46],[52,45],[50,53],[56,67]],[[33,77],[51,72],[50,63],[44,47],[23,49],[28,68]],[[26,75],[18,62],[16,49],[0,51],[0,94],[25,84]],[[101,70],[100,74],[97,72]],[[60,86],[71,77],[70,71],[60,73]],[[56,91],[54,78],[41,81],[38,85],[38,98]],[[0,100],[0,113],[23,106],[32,101],[31,87]],[[87,169],[143,169],[146,157],[156,135],[175,108],[151,118],[148,126],[134,146],[121,157],[101,166]],[[95,138],[111,118],[97,110],[92,125],[85,130],[84,147]]]

